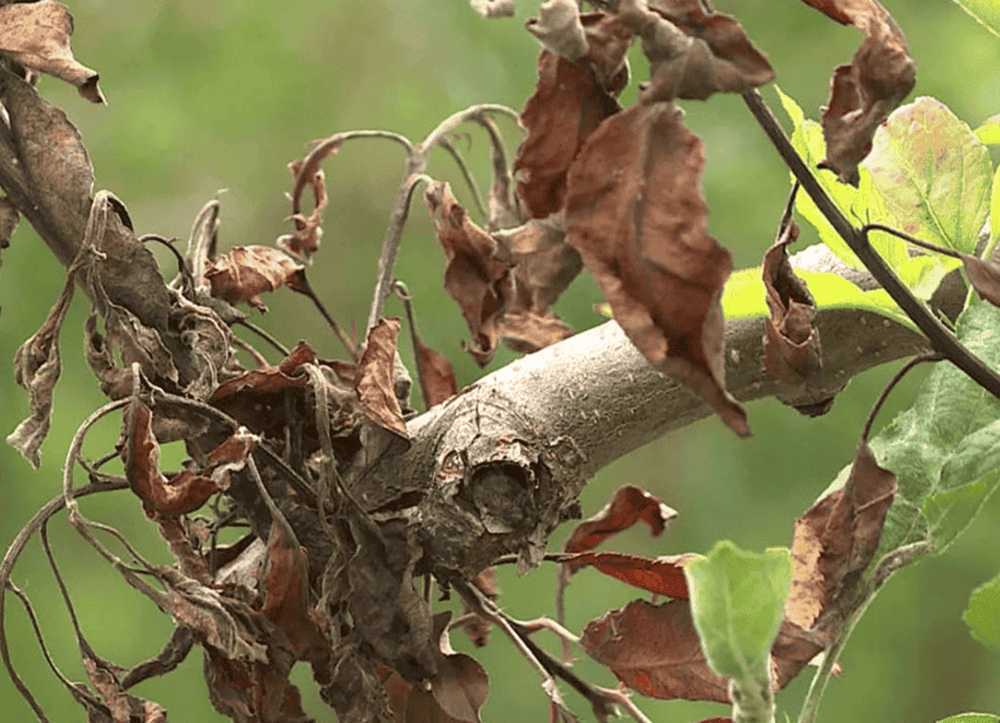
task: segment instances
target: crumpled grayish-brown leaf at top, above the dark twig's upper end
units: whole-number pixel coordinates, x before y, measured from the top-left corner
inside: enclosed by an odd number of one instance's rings
[[[743,93],[774,79],[770,64],[733,18],[706,13],[697,0],[623,0],[622,19],[642,37],[650,82],[642,103],[704,100]]]

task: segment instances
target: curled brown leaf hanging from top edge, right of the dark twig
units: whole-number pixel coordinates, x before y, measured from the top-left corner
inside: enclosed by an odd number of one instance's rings
[[[917,66],[906,38],[889,12],[875,0],[803,0],[865,40],[850,65],[838,66],[830,81],[830,104],[823,110],[826,158],[819,164],[842,183],[857,186],[858,164],[872,148],[872,136],[913,90]]]

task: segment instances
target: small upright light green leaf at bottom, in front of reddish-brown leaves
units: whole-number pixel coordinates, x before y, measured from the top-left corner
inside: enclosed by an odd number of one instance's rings
[[[732,542],[684,567],[702,648],[719,675],[754,684],[768,679],[771,644],[785,615],[792,559],[785,549],[763,555]]]

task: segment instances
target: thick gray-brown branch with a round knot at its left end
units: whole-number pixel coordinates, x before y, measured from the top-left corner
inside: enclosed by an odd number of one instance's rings
[[[793,265],[872,286],[825,248]],[[955,274],[933,305],[953,316],[964,293]],[[778,396],[815,412],[854,375],[928,348],[922,336],[866,311],[820,311],[817,324],[822,377],[790,387],[762,371],[763,319],[728,321],[729,391],[744,402]],[[471,574],[500,552],[531,565],[549,532],[575,513],[595,472],[710,414],[699,397],[652,369],[612,321],[529,354],[413,419],[410,449],[352,487],[369,510],[422,526],[430,558],[446,568]]]

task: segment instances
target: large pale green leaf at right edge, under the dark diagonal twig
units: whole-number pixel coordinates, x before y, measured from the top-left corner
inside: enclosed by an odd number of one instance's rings
[[[987,366],[1000,367],[1000,309],[974,301],[959,317],[956,334]],[[1000,400],[939,362],[913,406],[870,445],[899,483],[880,554],[926,539],[940,552],[1000,482]]]

